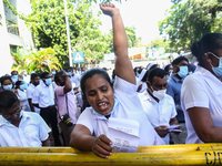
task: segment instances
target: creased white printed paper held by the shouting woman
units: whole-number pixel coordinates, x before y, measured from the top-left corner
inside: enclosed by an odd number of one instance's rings
[[[109,118],[108,137],[114,152],[135,153],[139,146],[139,123],[133,120]]]

